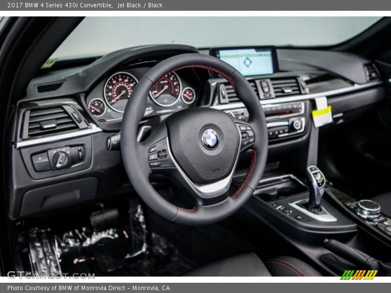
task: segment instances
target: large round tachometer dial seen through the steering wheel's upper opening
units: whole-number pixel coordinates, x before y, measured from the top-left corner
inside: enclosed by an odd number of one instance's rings
[[[159,106],[169,107],[178,102],[182,92],[182,84],[175,72],[163,76],[153,85],[150,96]]]

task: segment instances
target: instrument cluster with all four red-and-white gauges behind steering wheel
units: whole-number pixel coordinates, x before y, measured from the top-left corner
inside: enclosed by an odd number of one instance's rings
[[[87,96],[90,113],[100,122],[122,119],[138,80],[149,67],[117,71],[98,84]],[[162,76],[149,92],[144,116],[155,116],[193,107],[200,90],[194,71],[179,70]]]

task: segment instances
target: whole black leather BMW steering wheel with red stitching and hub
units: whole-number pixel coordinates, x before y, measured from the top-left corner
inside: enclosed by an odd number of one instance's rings
[[[138,126],[152,86],[169,72],[184,68],[213,71],[235,89],[249,111],[248,122],[208,107],[178,111],[157,126],[143,142]],[[239,188],[228,194],[239,154],[251,149],[250,167]],[[168,58],[152,67],[135,86],[121,126],[121,154],[130,183],[156,213],[173,222],[207,225],[237,211],[253,194],[268,149],[266,119],[258,96],[231,65],[208,55],[191,53]],[[151,174],[165,174],[194,198],[192,209],[180,208],[152,187]]]

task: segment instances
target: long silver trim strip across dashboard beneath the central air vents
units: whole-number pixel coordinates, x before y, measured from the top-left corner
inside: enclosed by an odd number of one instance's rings
[[[357,90],[362,90],[366,89],[369,87],[373,87],[376,85],[383,84],[383,82],[378,81],[378,82],[371,82],[368,84],[354,84],[352,86],[344,87],[344,88],[339,88],[339,89],[333,89],[321,93],[315,93],[315,94],[306,94],[306,95],[300,95],[300,96],[291,96],[291,97],[286,97],[286,98],[275,98],[275,99],[266,99],[266,100],[261,100],[260,103],[261,105],[267,105],[267,104],[278,104],[278,103],[288,103],[288,102],[296,102],[296,101],[304,101],[304,100],[311,100],[311,99],[316,99],[319,97],[324,97],[324,96],[334,96],[334,95],[340,95],[340,94],[346,94],[349,92],[354,92]],[[243,108],[244,104],[243,103],[233,103],[233,104],[228,104],[228,105],[217,105],[217,106],[211,106],[211,108],[217,109],[217,110],[230,110],[230,109],[235,109],[235,108]]]

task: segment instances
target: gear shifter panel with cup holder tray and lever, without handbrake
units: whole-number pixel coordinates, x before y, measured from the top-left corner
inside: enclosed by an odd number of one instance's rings
[[[306,181],[293,174],[265,177],[246,208],[294,238],[301,235],[308,241],[319,242],[325,234],[341,239],[355,233],[357,225],[328,196],[323,197],[328,189],[323,173],[311,166],[307,168],[307,177]]]

